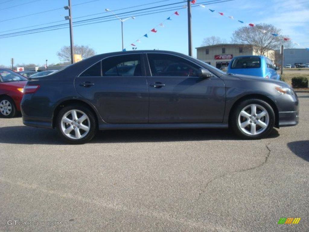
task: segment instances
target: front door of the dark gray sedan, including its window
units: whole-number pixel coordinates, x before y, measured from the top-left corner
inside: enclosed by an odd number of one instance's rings
[[[222,79],[198,77],[201,67],[177,55],[147,53],[146,57],[150,123],[222,122]]]

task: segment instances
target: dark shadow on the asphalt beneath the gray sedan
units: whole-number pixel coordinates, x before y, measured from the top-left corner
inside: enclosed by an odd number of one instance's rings
[[[268,138],[279,133],[273,129]],[[140,143],[203,140],[241,140],[229,129],[112,130],[98,131],[90,143]],[[66,145],[56,130],[27,126],[0,127],[0,143]]]

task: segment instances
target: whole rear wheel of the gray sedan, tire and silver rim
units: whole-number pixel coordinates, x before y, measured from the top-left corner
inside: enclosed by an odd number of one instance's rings
[[[95,115],[88,107],[78,104],[68,105],[61,109],[56,123],[61,139],[70,144],[87,143],[97,131]]]

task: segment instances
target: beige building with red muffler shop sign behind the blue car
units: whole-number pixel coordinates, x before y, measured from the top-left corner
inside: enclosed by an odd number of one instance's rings
[[[204,61],[216,68],[229,65],[231,60],[236,56],[259,55],[253,51],[251,46],[244,46],[243,44],[217,44],[198,47],[196,49],[197,59]],[[273,60],[274,51],[268,51],[265,56]]]

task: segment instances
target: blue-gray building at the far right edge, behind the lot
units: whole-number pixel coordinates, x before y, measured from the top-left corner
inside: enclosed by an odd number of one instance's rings
[[[280,50],[276,50],[277,63],[281,63]],[[290,64],[293,68],[295,64],[309,64],[309,49],[284,49],[283,67]]]

